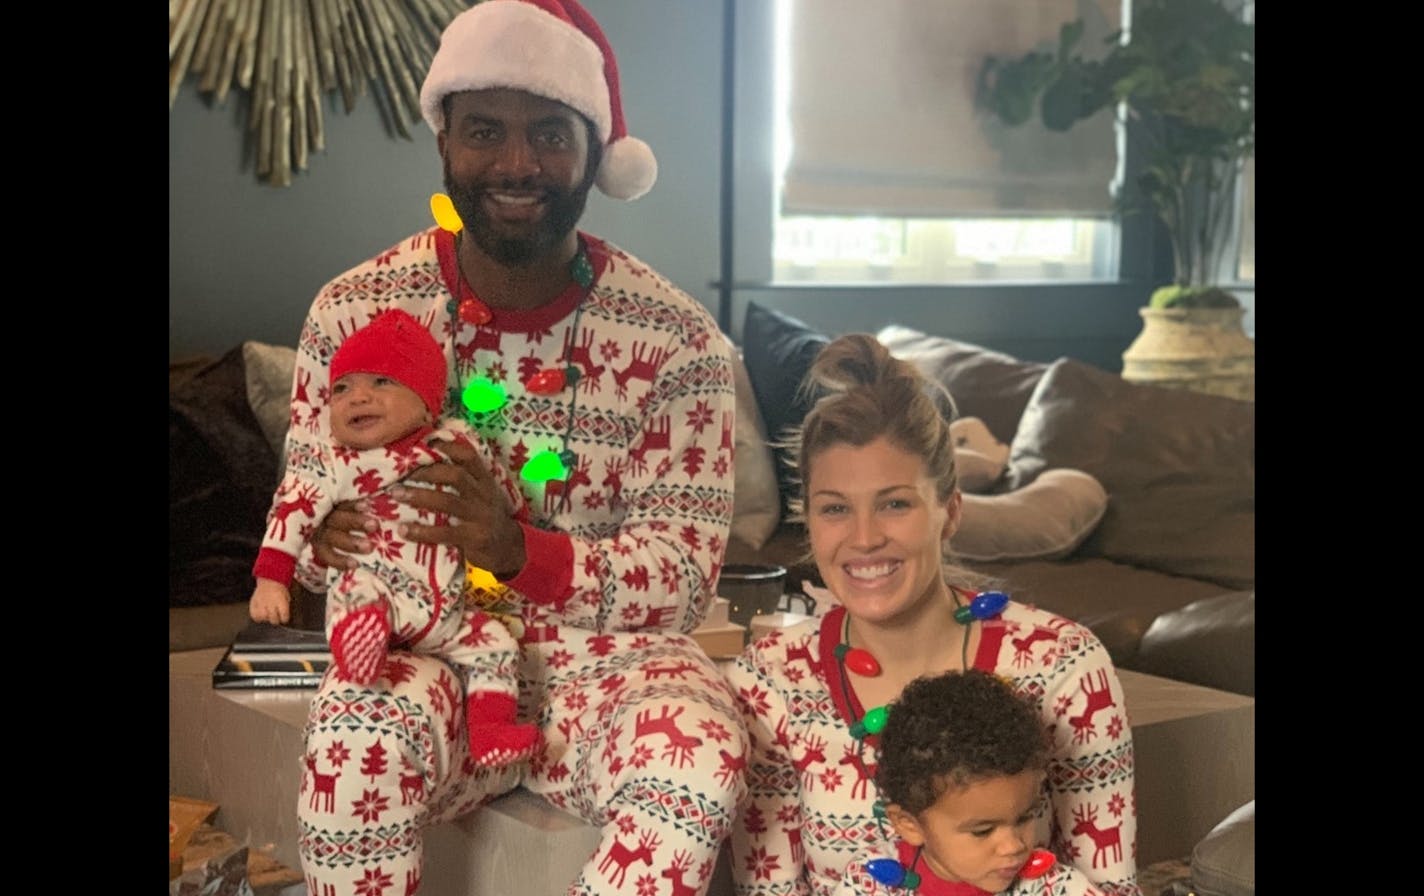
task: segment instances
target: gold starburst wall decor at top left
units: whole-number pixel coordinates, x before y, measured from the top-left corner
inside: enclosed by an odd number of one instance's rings
[[[392,134],[422,121],[420,84],[468,0],[168,0],[168,110],[184,80],[221,105],[248,93],[256,175],[273,187],[325,150],[322,101],[350,114],[366,93]]]

